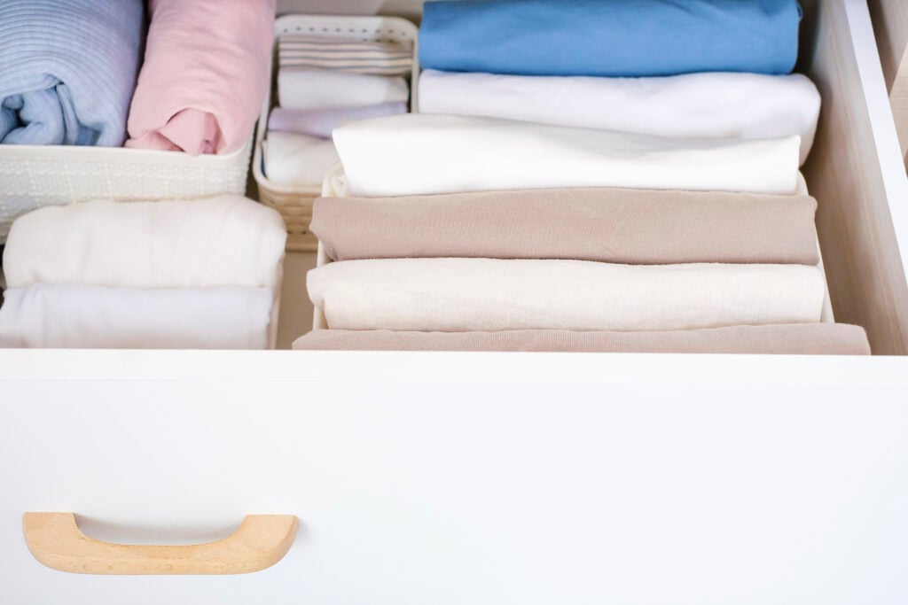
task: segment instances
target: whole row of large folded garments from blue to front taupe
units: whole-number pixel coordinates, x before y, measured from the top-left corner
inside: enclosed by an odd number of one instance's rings
[[[869,353],[861,328],[821,323],[800,16],[426,3],[426,114],[334,132],[354,197],[316,200],[329,329],[295,346]]]

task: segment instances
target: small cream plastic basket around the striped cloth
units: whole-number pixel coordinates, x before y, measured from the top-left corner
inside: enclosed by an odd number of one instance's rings
[[[306,34],[325,38],[413,42],[413,70],[410,75],[410,111],[416,111],[419,85],[419,61],[417,60],[416,25],[406,19],[383,16],[348,15],[284,15],[274,22],[275,53],[277,37],[283,34]],[[264,173],[262,141],[268,129],[268,116],[277,104],[277,76],[275,56],[271,67],[272,86],[262,106],[258,132],[255,136],[255,153],[252,159],[252,174],[259,189],[259,200],[281,212],[287,224],[287,249],[292,251],[314,251],[318,242],[309,232],[312,220],[312,201],[319,197],[321,187],[294,187],[279,185],[268,180]]]

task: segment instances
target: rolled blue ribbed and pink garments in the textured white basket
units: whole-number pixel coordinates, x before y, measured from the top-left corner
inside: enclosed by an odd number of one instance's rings
[[[141,0],[0,2],[0,143],[240,149],[274,0],[150,0],[147,37],[143,17]]]

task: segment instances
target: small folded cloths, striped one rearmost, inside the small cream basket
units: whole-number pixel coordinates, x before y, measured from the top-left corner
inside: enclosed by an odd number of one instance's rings
[[[408,41],[285,34],[278,39],[278,107],[262,141],[263,171],[277,185],[318,187],[338,155],[331,132],[345,122],[407,112]]]

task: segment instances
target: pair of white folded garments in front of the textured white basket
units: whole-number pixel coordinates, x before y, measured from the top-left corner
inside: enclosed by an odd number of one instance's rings
[[[237,195],[35,210],[4,250],[0,347],[267,348],[285,239]]]

